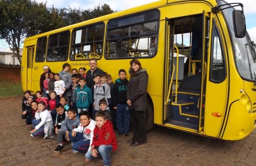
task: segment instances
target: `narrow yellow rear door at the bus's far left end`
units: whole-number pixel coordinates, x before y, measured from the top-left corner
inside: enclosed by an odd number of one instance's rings
[[[32,90],[32,69],[35,46],[26,47],[27,51],[27,90]]]

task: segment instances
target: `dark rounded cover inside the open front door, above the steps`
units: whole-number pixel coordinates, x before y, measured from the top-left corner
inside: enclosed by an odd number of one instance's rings
[[[178,92],[200,94],[200,79],[200,74],[185,76],[180,82]]]

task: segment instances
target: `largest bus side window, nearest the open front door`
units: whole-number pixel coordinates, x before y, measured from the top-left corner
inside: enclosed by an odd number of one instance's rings
[[[151,11],[111,20],[106,37],[106,59],[153,57],[157,52],[159,13]]]

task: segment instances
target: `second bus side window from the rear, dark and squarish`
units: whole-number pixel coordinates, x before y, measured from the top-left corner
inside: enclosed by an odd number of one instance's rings
[[[69,40],[69,31],[50,35],[47,49],[47,61],[67,61]]]

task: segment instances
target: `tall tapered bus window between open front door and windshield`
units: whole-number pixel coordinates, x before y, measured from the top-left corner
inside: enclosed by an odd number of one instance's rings
[[[221,82],[226,77],[225,71],[225,58],[223,54],[222,41],[219,37],[219,33],[214,28],[214,34],[212,35],[211,44],[211,64],[210,64],[210,81]]]

